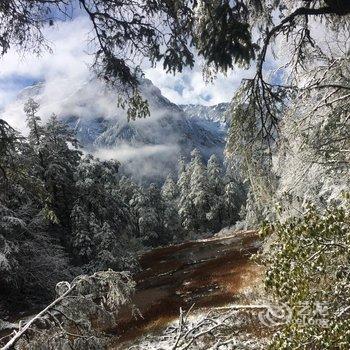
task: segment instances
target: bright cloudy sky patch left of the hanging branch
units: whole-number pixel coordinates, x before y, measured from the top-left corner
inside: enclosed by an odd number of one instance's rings
[[[7,106],[23,87],[37,81],[54,84],[61,79],[82,82],[89,76],[87,35],[89,21],[77,17],[72,21],[45,29],[52,53],[40,56],[10,51],[0,60],[0,108]]]

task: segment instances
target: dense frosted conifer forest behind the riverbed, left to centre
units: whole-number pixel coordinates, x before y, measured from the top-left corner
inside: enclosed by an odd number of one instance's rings
[[[1,161],[2,311],[52,297],[53,286],[108,268],[137,269],[136,252],[233,225],[244,190],[216,156],[197,150],[162,186],[141,187],[117,161],[83,155],[74,132],[25,105],[28,137],[6,126]],[[7,298],[6,298],[7,296]]]

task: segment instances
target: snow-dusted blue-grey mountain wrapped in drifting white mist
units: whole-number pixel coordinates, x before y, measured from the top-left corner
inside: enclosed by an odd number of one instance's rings
[[[100,158],[121,161],[122,171],[141,181],[160,181],[176,171],[180,155],[189,157],[198,148],[204,158],[215,153],[220,158],[225,144],[227,104],[205,107],[178,106],[145,80],[141,86],[151,116],[127,121],[125,110],[117,107],[117,94],[97,81],[84,84],[48,86],[39,83],[24,89],[7,108],[4,117],[11,122],[21,115],[23,104],[34,98],[45,120],[57,114],[76,130],[87,152]]]

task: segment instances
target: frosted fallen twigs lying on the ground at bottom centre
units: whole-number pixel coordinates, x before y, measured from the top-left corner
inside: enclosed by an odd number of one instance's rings
[[[242,349],[263,349],[263,340],[240,331],[244,324],[254,327],[259,321],[257,312],[266,305],[231,305],[209,310],[186,313],[180,309],[179,320],[162,334],[146,336],[132,349],[169,348],[172,350],[210,349],[221,350],[233,344]],[[243,326],[244,327],[244,326]]]

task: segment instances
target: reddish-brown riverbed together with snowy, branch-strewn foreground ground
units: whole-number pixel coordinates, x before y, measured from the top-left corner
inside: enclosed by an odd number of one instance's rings
[[[117,311],[103,311],[88,295],[76,297],[80,304],[47,312],[16,349],[51,343],[63,349],[71,342],[79,349],[264,349],[273,329],[259,319],[263,268],[252,256],[260,246],[255,231],[228,230],[143,252],[132,276],[136,289]],[[81,333],[82,317],[90,336]]]

